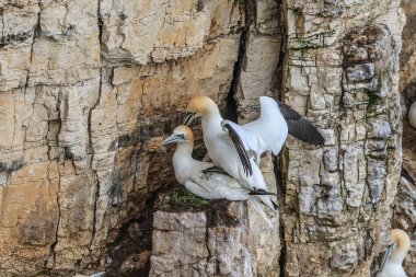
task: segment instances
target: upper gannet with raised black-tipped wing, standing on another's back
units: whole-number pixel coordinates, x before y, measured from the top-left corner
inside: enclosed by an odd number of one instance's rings
[[[259,102],[259,118],[240,126],[223,119],[210,97],[195,96],[186,107],[184,124],[201,117],[204,142],[213,163],[246,188],[268,191],[258,168],[264,152],[278,154],[288,132],[315,146],[322,146],[324,138],[288,105],[268,96],[261,96]]]

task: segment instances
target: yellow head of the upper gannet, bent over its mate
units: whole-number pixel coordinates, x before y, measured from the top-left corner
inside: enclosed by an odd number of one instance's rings
[[[184,124],[189,125],[195,118],[207,117],[216,112],[219,113],[218,106],[210,97],[195,96],[189,101],[186,107]]]

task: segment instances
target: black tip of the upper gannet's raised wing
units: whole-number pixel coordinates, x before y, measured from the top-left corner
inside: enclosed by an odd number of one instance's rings
[[[279,105],[280,113],[288,123],[289,134],[303,142],[311,143],[313,146],[323,146],[325,142],[321,132],[304,117],[302,117],[297,111],[290,106],[276,101]]]

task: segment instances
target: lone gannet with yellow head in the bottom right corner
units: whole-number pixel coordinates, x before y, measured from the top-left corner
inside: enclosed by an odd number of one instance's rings
[[[402,267],[404,257],[411,249],[411,239],[401,229],[391,231],[392,243],[384,253],[381,270],[377,277],[407,277]]]

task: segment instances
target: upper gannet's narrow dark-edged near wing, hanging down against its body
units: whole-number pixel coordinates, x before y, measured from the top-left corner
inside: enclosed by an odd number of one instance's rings
[[[235,147],[236,153],[239,154],[241,163],[243,164],[245,175],[247,175],[247,176],[253,175],[252,164],[250,162],[249,154],[245,151],[245,149],[249,149],[249,145],[246,143],[246,141],[243,141],[242,137],[238,132],[238,129],[240,129],[242,127],[240,127],[239,125],[236,125],[230,120],[222,120],[221,125],[222,125],[222,128],[229,135],[232,143]]]

